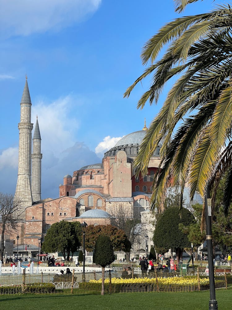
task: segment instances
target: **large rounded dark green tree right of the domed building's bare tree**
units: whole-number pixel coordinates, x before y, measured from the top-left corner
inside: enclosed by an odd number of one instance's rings
[[[167,208],[159,217],[154,230],[154,246],[159,253],[165,253],[169,249],[176,252],[176,258],[182,257],[183,249],[189,247],[189,240],[186,234],[179,229],[179,224],[185,226],[195,222],[192,213],[183,208],[182,217],[179,216],[178,207]]]

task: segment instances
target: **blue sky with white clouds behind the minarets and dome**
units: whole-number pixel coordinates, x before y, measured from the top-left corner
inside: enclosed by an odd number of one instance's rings
[[[213,5],[197,2],[182,15]],[[0,0],[0,192],[15,192],[25,74],[42,139],[42,198],[55,198],[65,174],[101,162],[157,114],[171,85],[143,110],[136,105],[149,79],[129,99],[123,93],[145,69],[144,43],[177,16],[172,0]]]

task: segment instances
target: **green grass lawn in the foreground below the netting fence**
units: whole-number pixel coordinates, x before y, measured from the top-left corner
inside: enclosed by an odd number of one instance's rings
[[[232,307],[232,290],[217,290],[218,309]],[[25,294],[0,295],[1,310],[208,310],[209,291],[186,293],[121,293],[93,294]]]

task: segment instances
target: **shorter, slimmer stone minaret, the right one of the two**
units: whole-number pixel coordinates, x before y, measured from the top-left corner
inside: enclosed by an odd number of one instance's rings
[[[33,135],[33,152],[32,152],[32,198],[33,201],[41,200],[41,137],[36,117],[36,126]]]

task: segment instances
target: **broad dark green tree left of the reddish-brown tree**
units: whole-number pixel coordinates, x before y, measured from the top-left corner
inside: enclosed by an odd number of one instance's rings
[[[81,227],[79,222],[61,221],[51,225],[46,233],[41,250],[43,252],[62,252],[64,259],[70,257],[81,245]]]

